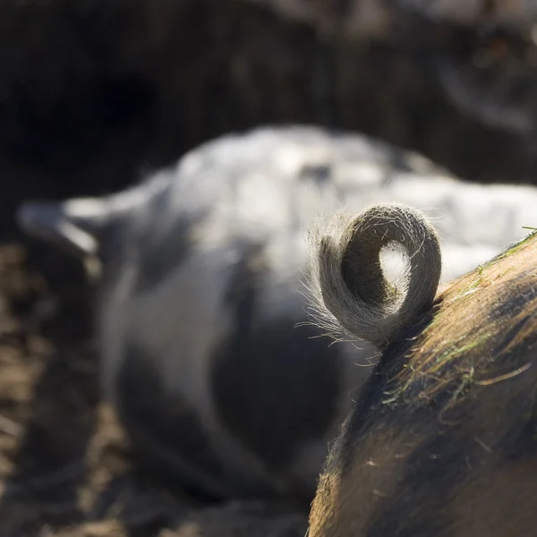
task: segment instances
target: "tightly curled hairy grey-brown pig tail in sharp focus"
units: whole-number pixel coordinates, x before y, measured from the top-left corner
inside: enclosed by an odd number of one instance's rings
[[[358,216],[338,214],[311,228],[306,282],[308,312],[332,337],[342,332],[378,347],[434,300],[441,273],[439,237],[426,217],[402,204],[381,204]],[[385,277],[381,250],[402,247],[408,270],[397,284]]]

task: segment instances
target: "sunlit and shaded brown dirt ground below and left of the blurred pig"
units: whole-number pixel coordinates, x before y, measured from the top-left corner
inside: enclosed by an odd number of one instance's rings
[[[81,264],[20,234],[0,239],[2,537],[303,537],[285,508],[204,506],[132,460],[99,405]]]

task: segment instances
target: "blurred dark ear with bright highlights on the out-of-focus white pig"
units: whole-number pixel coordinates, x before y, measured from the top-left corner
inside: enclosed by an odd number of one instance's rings
[[[83,257],[98,253],[99,236],[107,226],[109,212],[106,199],[28,201],[19,207],[15,218],[26,234]]]

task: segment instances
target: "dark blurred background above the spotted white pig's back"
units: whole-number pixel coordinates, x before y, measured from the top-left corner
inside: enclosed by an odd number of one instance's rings
[[[110,192],[266,123],[533,182],[534,22],[532,0],[4,0],[2,215],[29,195]]]

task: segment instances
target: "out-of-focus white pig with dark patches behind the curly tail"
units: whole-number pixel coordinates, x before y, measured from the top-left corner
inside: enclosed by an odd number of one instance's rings
[[[217,498],[309,502],[377,342],[314,337],[307,230],[387,202],[434,222],[447,281],[524,236],[537,190],[463,183],[358,135],[266,127],[125,192],[26,203],[18,220],[98,260],[103,391],[144,460]]]

